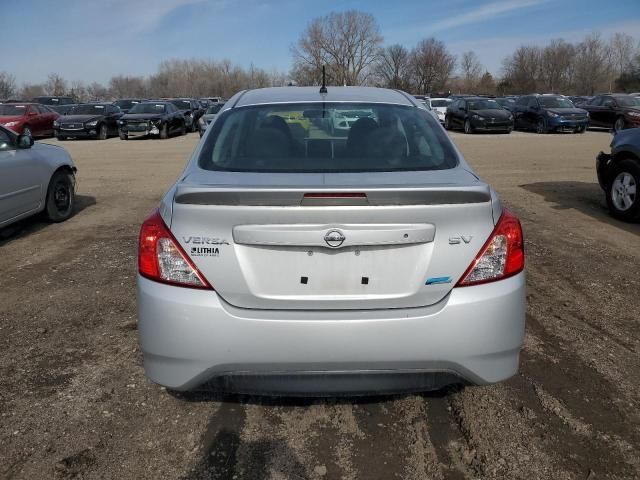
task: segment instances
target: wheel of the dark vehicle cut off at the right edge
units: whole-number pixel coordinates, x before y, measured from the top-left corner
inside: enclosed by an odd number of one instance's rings
[[[611,215],[625,222],[640,220],[640,163],[626,159],[614,165],[606,188],[607,206]]]

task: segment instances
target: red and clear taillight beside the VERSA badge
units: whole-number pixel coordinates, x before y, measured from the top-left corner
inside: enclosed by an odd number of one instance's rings
[[[159,211],[142,224],[138,241],[140,275],[157,282],[211,288],[165,225]]]

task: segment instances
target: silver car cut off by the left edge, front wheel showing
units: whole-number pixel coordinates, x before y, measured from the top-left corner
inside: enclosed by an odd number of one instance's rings
[[[63,148],[0,126],[0,227],[41,212],[52,222],[69,218],[75,172]]]

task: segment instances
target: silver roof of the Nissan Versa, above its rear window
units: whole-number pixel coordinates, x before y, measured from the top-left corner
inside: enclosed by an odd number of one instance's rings
[[[376,87],[327,87],[325,95],[320,87],[271,87],[246,90],[241,93],[234,107],[271,103],[312,103],[312,102],[366,102],[392,103],[417,106],[418,100],[399,90]]]

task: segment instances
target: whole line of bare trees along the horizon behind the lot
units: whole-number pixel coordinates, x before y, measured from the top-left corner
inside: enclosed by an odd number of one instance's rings
[[[291,56],[289,73],[253,65],[243,68],[230,60],[171,59],[154,74],[117,75],[106,85],[69,82],[51,73],[43,83],[18,87],[13,75],[0,72],[0,98],[230,97],[246,88],[320,85],[323,66],[329,85],[383,86],[414,94],[640,91],[640,43],[626,33],[608,39],[592,33],[575,43],[558,38],[544,46],[521,45],[502,60],[494,78],[474,51],[456,56],[434,37],[411,47],[385,45],[375,18],[350,10],[313,19],[291,46]]]

